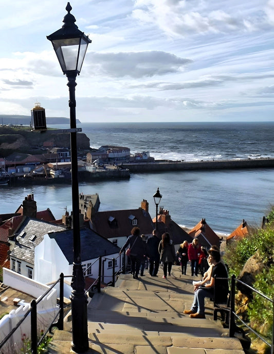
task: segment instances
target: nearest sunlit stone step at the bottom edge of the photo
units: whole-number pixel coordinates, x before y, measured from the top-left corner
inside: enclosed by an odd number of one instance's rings
[[[133,335],[131,333],[92,333],[86,353],[123,354],[244,354],[235,338],[200,338],[191,336]],[[72,352],[71,333],[57,330],[49,344],[49,354]]]

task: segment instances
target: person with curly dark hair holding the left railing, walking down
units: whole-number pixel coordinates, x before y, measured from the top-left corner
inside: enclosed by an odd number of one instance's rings
[[[141,260],[145,255],[144,242],[140,237],[139,227],[134,227],[131,230],[131,235],[127,238],[125,244],[120,249],[120,254],[128,247],[131,249],[130,259],[133,278],[138,279]]]

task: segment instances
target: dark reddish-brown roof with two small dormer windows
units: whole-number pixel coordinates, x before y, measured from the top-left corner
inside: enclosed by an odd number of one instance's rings
[[[133,219],[137,220],[137,225],[133,225]],[[151,234],[154,229],[150,214],[142,208],[98,211],[92,218],[92,226],[106,239],[127,237],[134,226],[144,234]]]

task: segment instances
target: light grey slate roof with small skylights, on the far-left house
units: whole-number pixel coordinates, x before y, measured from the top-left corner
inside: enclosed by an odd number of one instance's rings
[[[16,245],[10,253],[10,258],[14,257],[34,265],[34,247],[43,241],[46,233],[64,229],[59,225],[26,217],[17,230]]]

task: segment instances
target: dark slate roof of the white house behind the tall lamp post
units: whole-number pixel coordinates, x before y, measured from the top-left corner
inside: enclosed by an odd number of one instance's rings
[[[57,242],[68,263],[72,264],[74,261],[73,230],[52,232],[49,233],[49,237]],[[100,255],[111,255],[120,251],[120,247],[86,227],[80,229],[80,240],[82,262],[96,259]]]

